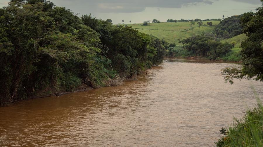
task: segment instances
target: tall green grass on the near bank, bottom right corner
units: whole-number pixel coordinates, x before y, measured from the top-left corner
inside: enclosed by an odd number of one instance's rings
[[[248,109],[241,119],[234,118],[229,129],[220,130],[224,134],[218,142],[217,147],[263,146],[263,107],[258,102],[257,107]]]

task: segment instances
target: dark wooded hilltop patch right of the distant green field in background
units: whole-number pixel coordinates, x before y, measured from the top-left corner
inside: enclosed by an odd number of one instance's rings
[[[215,28],[218,38],[226,39],[242,34],[241,17],[242,15],[235,15],[221,21]]]

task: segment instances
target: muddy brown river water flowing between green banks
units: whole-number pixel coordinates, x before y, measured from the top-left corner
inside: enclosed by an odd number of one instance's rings
[[[238,64],[169,59],[124,86],[0,107],[0,146],[214,146],[263,83],[217,76]]]

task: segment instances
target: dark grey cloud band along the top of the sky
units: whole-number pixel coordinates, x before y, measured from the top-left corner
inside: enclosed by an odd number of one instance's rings
[[[81,3],[86,10],[93,12],[114,12],[114,13],[132,13],[141,12],[146,7],[158,8],[181,8],[182,6],[197,5],[199,3],[212,4],[210,0],[51,0],[57,5],[60,4],[74,4]],[[81,8],[80,8],[81,9]],[[83,8],[84,9],[84,8]]]

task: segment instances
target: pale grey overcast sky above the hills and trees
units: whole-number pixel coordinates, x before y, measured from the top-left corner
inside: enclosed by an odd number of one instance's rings
[[[56,6],[71,9],[79,15],[91,13],[96,18],[112,19],[114,24],[142,23],[158,19],[207,19],[222,15],[243,14],[261,6],[260,0],[50,0]],[[0,7],[8,0],[0,0]]]

